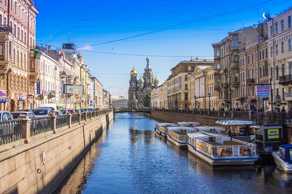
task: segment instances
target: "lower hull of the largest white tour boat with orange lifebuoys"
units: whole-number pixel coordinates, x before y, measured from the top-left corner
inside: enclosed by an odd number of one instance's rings
[[[221,157],[221,159],[212,159],[202,152],[197,151],[194,146],[187,144],[188,150],[191,154],[195,155],[202,161],[208,163],[211,166],[249,166],[254,165],[258,158],[232,158]],[[225,159],[224,159],[225,158]]]

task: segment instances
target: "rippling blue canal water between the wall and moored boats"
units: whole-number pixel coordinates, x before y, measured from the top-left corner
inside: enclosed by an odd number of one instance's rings
[[[292,194],[275,166],[212,168],[154,131],[158,121],[116,114],[55,194]]]

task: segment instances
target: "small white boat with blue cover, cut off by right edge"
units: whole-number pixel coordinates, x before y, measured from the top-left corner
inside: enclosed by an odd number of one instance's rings
[[[281,145],[277,152],[272,152],[277,167],[287,173],[292,173],[292,145]]]

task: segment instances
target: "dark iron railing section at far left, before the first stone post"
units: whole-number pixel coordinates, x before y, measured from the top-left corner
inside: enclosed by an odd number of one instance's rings
[[[21,119],[0,121],[0,145],[21,139]]]

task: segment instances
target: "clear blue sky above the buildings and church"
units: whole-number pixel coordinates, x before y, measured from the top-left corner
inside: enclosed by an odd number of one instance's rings
[[[39,10],[37,44],[50,45],[52,41],[53,49],[60,48],[71,33],[70,42],[81,51],[91,74],[111,94],[126,97],[129,72],[134,65],[139,79],[147,54],[153,73],[163,83],[180,61],[212,59],[211,44],[226,37],[227,32],[258,23],[264,20],[264,12],[273,16],[292,4],[291,0],[34,2]]]

